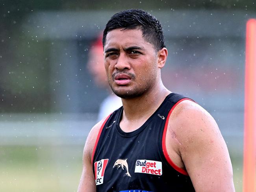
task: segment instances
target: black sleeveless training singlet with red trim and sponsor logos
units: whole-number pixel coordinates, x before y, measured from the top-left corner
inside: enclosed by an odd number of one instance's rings
[[[120,128],[123,108],[103,123],[93,150],[97,192],[194,192],[186,171],[170,159],[165,147],[169,116],[182,100],[169,94],[160,107],[135,131]]]

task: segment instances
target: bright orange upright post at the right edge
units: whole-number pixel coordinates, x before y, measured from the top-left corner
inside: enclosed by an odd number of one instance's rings
[[[256,192],[256,19],[246,24],[243,192]]]

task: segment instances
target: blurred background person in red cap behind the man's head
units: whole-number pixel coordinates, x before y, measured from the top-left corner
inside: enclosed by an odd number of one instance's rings
[[[110,113],[122,106],[122,100],[120,97],[113,94],[109,88],[108,79],[106,76],[106,70],[104,68],[104,53],[102,45],[102,33],[98,35],[96,41],[90,47],[88,59],[88,69],[93,75],[95,84],[106,89],[109,93],[108,97],[100,103],[100,109],[98,112],[98,121],[108,116]]]

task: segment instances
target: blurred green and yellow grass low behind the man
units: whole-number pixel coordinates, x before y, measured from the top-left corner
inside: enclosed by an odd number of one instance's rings
[[[0,146],[0,192],[76,192],[83,146]],[[236,192],[242,157],[232,156]]]

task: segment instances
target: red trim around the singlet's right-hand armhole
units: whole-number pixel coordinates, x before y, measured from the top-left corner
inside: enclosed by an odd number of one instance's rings
[[[187,171],[179,168],[178,166],[176,166],[176,164],[174,164],[174,162],[171,160],[171,158],[169,157],[168,153],[167,153],[167,149],[166,149],[166,145],[165,145],[165,137],[166,137],[166,131],[167,131],[167,126],[168,126],[168,122],[169,122],[169,118],[171,116],[171,113],[173,112],[174,108],[176,107],[176,105],[178,105],[180,102],[184,101],[184,100],[190,100],[192,102],[194,102],[193,100],[189,99],[189,98],[184,98],[179,100],[177,103],[175,103],[175,105],[173,105],[173,107],[171,108],[170,112],[168,113],[168,116],[166,118],[166,122],[165,122],[165,127],[163,129],[163,139],[162,139],[162,148],[163,148],[163,154],[165,156],[165,159],[169,162],[169,164],[178,172],[180,172],[183,175],[188,175]]]

